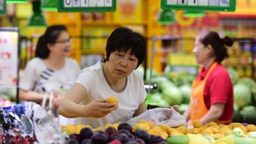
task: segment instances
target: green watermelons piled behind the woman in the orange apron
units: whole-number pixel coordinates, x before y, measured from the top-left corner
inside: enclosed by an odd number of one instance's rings
[[[255,124],[256,121],[256,82],[250,77],[241,77],[233,68],[227,68],[234,86],[233,122]],[[147,70],[149,73],[149,70]],[[149,76],[149,74],[148,74]],[[149,78],[149,77],[148,77]],[[153,72],[152,83],[157,90],[148,94],[146,103],[158,107],[179,105],[182,114],[188,108],[191,94],[191,83],[195,76],[187,73],[174,73],[165,69],[162,76]],[[148,79],[145,84],[148,83]]]

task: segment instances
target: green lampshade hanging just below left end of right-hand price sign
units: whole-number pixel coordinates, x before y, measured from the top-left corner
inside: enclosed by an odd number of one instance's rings
[[[173,13],[172,10],[163,10],[159,15],[158,22],[162,23],[163,25],[175,23],[176,22],[175,14]]]

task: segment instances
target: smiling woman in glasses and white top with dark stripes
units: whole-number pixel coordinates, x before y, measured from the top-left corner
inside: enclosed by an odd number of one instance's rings
[[[46,29],[38,39],[36,58],[27,63],[21,77],[20,100],[41,103],[45,94],[53,94],[53,106],[59,107],[81,72],[76,60],[68,58],[70,46],[71,37],[65,26]]]

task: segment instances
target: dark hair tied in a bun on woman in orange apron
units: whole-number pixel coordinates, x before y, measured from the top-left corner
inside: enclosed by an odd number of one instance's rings
[[[223,59],[228,58],[228,50],[226,46],[232,46],[234,41],[228,36],[220,38],[219,34],[215,31],[209,31],[209,33],[199,35],[200,41],[206,47],[211,45],[214,50],[215,61],[221,63]],[[225,46],[226,45],[226,46]]]

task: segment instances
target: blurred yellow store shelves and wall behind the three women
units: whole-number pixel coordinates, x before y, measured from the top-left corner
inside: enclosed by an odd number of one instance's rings
[[[220,35],[236,39],[230,58],[223,62],[234,68],[240,77],[256,77],[256,1],[239,0],[236,12],[205,12],[204,17],[185,17],[176,10],[175,22],[163,25],[158,21],[160,1],[118,0],[115,12],[58,12],[42,11],[47,25],[63,24],[73,37],[71,58],[82,68],[102,59],[106,39],[116,27],[126,26],[140,31],[148,39],[147,68],[150,67],[152,37],[157,36],[153,69],[161,75],[167,65],[196,66],[192,53],[194,38],[199,31],[215,30]],[[1,27],[18,27],[21,35],[20,73],[26,62],[35,56],[35,45],[45,27],[28,27],[33,14],[31,1],[25,4],[7,4],[6,14],[0,16]],[[166,37],[167,36],[167,37]],[[166,37],[166,38],[164,38]],[[163,39],[164,38],[164,39]],[[249,39],[249,41],[247,41]],[[255,52],[255,53],[254,53]],[[189,69],[189,68],[188,68]],[[191,70],[191,69],[190,69]]]

